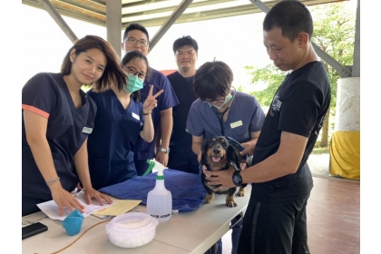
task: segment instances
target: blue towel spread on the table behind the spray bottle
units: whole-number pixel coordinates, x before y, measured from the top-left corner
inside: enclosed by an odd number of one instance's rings
[[[165,188],[172,195],[172,210],[186,212],[200,208],[206,196],[200,175],[170,169],[163,173]],[[142,204],[146,205],[148,192],[155,187],[156,175],[157,172],[137,176],[99,191],[121,200],[142,200]]]

